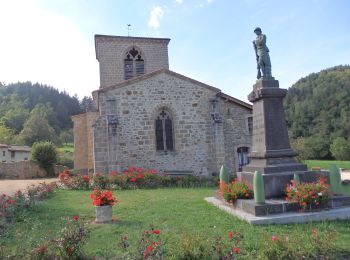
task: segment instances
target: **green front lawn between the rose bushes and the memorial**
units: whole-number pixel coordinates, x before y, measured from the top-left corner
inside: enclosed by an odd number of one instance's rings
[[[114,224],[93,225],[84,251],[88,255],[104,255],[119,252],[117,243],[121,235],[128,235],[132,245],[137,244],[140,234],[153,224],[161,231],[167,259],[176,255],[178,241],[183,234],[201,240],[217,236],[227,237],[230,230],[244,236],[240,247],[245,258],[253,259],[254,253],[264,247],[266,238],[310,236],[313,228],[320,232],[336,230],[336,244],[348,248],[350,242],[350,220],[299,225],[251,226],[203,200],[212,196],[214,190],[203,189],[155,189],[117,191],[119,203],[113,214],[119,219]],[[89,191],[58,190],[53,197],[26,213],[21,222],[7,229],[2,243],[15,250],[18,245],[35,244],[40,238],[48,239],[64,225],[62,217],[79,215],[87,222],[94,219]],[[304,242],[300,242],[304,243]]]

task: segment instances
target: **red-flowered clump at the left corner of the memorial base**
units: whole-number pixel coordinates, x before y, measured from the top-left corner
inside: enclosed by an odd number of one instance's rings
[[[237,199],[251,199],[253,191],[246,182],[235,178],[231,183],[224,185],[222,196],[226,201],[235,203]]]

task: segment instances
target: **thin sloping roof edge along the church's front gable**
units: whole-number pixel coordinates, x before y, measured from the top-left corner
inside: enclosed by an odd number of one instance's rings
[[[225,94],[225,93],[222,93],[221,90],[218,89],[218,88],[215,88],[215,87],[213,87],[213,86],[207,85],[207,84],[205,84],[205,83],[203,83],[203,82],[200,82],[200,81],[197,81],[197,80],[195,80],[195,79],[191,79],[191,78],[189,78],[189,77],[186,77],[186,76],[184,76],[184,75],[182,75],[182,74],[176,73],[176,72],[171,71],[171,70],[168,70],[168,69],[156,70],[156,71],[153,71],[153,72],[144,74],[144,75],[139,76],[139,77],[134,77],[134,78],[131,78],[131,79],[122,81],[122,82],[117,83],[117,84],[112,85],[112,86],[100,88],[100,89],[98,89],[98,90],[93,91],[93,92],[92,92],[92,95],[98,94],[98,93],[104,93],[104,92],[107,92],[107,91],[112,90],[112,89],[115,89],[115,88],[120,88],[120,87],[128,86],[128,85],[130,85],[130,84],[133,84],[133,83],[136,83],[136,82],[139,82],[139,81],[142,81],[142,80],[145,80],[145,79],[154,77],[154,76],[156,76],[156,75],[158,75],[158,74],[161,74],[161,73],[166,73],[166,74],[168,74],[168,75],[171,75],[171,76],[180,78],[180,79],[182,79],[182,80],[191,82],[191,83],[193,83],[193,84],[202,86],[202,87],[204,87],[204,88],[210,89],[210,90],[216,92],[216,96],[217,96],[217,97],[220,97],[220,98],[224,99],[225,101],[235,103],[235,104],[237,104],[237,105],[243,106],[243,107],[248,108],[248,109],[252,109],[252,105],[250,105],[250,104],[248,104],[248,103],[246,103],[246,102],[244,102],[244,101],[241,101],[241,100],[239,100],[239,99],[237,99],[237,98],[231,97],[230,95],[227,95],[227,94]]]

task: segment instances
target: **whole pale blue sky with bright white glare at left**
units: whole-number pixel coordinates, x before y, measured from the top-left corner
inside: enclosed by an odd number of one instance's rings
[[[280,87],[350,63],[348,0],[0,0],[0,81],[79,97],[99,87],[94,35],[170,38],[170,69],[247,100],[252,40],[267,35]]]

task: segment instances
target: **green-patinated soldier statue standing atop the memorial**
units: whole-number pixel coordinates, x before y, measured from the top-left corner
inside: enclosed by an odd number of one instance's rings
[[[256,34],[256,39],[253,41],[253,45],[258,69],[257,78],[261,78],[261,72],[263,78],[272,78],[269,48],[266,46],[266,35],[262,34],[260,27],[256,27],[254,32]]]

